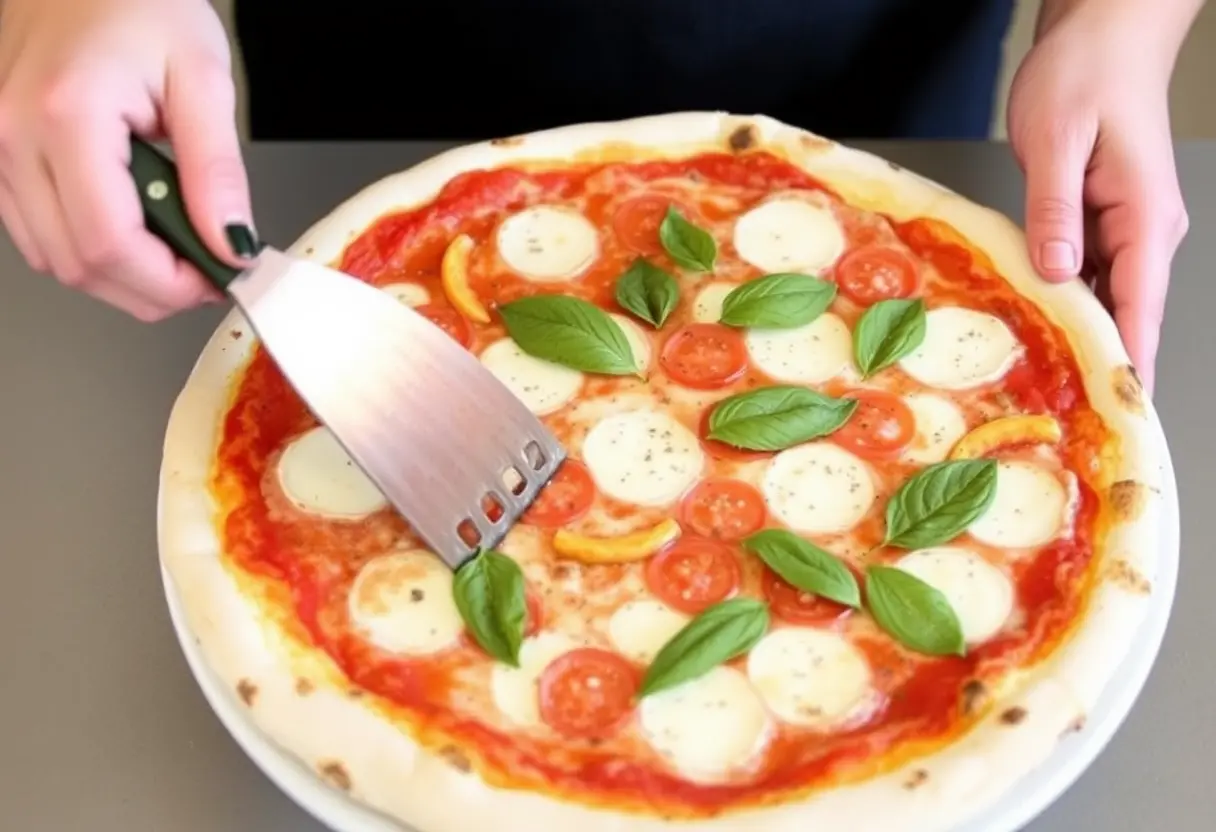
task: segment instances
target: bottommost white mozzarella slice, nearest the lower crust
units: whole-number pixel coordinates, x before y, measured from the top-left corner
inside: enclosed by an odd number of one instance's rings
[[[638,718],[647,742],[693,782],[747,769],[772,730],[747,676],[726,667],[646,697]]]

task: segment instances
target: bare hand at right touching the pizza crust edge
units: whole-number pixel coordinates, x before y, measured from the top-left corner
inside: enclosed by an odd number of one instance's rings
[[[1041,28],[1014,79],[1009,141],[1026,173],[1035,266],[1054,282],[1097,268],[1098,296],[1152,393],[1170,265],[1187,232],[1167,107],[1175,50],[1105,13],[1120,4],[1103,5],[1074,4]]]

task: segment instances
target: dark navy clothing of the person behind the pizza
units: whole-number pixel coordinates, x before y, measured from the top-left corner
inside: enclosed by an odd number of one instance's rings
[[[472,140],[681,109],[989,133],[1013,0],[237,0],[255,139]]]

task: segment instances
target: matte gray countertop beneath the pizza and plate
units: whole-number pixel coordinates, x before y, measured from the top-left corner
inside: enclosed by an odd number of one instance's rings
[[[440,145],[254,146],[261,235],[287,244]],[[1002,145],[873,144],[1020,217]],[[1148,685],[1094,765],[1029,828],[1210,830],[1216,817],[1216,144],[1178,150],[1190,235],[1175,264],[1156,401],[1182,499],[1182,579]],[[169,624],[157,471],[173,404],[221,316],[147,326],[33,275],[0,235],[0,830],[321,830],[208,709]],[[1207,819],[1204,821],[1203,819]]]

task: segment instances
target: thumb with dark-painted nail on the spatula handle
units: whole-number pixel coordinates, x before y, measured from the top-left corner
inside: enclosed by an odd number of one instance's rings
[[[164,122],[191,223],[216,257],[241,265],[258,243],[227,63],[209,55],[175,58]]]

